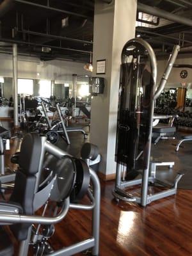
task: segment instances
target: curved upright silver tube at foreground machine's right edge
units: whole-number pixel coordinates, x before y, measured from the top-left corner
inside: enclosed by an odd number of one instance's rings
[[[90,168],[90,175],[93,184],[93,196],[95,198],[95,207],[92,211],[92,234],[95,239],[95,245],[92,249],[92,255],[99,255],[100,182],[97,173],[92,168]]]

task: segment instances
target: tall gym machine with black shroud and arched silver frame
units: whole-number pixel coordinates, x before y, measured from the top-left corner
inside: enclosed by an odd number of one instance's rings
[[[113,190],[117,201],[136,202],[146,206],[154,200],[177,193],[177,183],[182,174],[177,175],[173,184],[157,180],[156,167],[167,165],[172,168],[174,163],[150,164],[150,151],[154,101],[164,89],[178,51],[179,45],[176,45],[156,90],[157,63],[152,47],[141,38],[129,40],[124,45],[116,133],[116,182]],[[142,178],[135,179],[140,175],[140,170]],[[125,191],[139,184],[141,195],[134,196]],[[168,189],[151,194],[148,193],[149,184],[159,184]]]

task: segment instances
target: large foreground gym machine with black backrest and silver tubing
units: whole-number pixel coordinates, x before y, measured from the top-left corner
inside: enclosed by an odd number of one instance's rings
[[[45,153],[54,157],[44,159]],[[10,225],[13,235],[20,241],[18,255],[27,256],[29,245],[33,246],[34,255],[69,256],[89,248],[92,255],[99,255],[100,184],[92,168],[35,132],[24,137],[18,164],[10,202],[0,202],[0,223]],[[77,198],[81,200],[85,194],[90,204],[72,202]],[[74,198],[71,199],[71,195]],[[48,204],[52,211],[48,211]],[[41,207],[42,216],[35,215]],[[54,252],[48,239],[54,234],[54,224],[63,220],[69,209],[92,211],[92,236]],[[3,227],[0,233],[0,255],[13,255],[10,234]]]

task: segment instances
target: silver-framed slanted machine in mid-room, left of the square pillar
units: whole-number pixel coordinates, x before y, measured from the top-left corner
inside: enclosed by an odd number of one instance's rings
[[[44,111],[45,119],[47,120],[48,129],[45,130],[45,134],[48,137],[48,140],[51,143],[55,144],[59,140],[59,135],[70,145],[70,140],[68,138],[68,132],[81,132],[84,135],[84,139],[87,138],[88,134],[83,130],[82,127],[66,127],[65,118],[61,113],[60,104],[56,104],[56,108],[49,108],[51,111],[57,111],[59,115],[58,122],[55,122],[54,125],[51,125],[49,116],[47,115],[47,110],[45,108],[44,102],[42,102],[42,109]]]

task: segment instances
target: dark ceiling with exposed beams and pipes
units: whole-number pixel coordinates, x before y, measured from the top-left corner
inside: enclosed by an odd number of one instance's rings
[[[44,61],[88,62],[93,48],[94,2],[0,0],[0,52],[11,53],[11,44],[15,42],[22,55],[38,56]],[[138,0],[138,3],[192,19],[192,0]],[[138,12],[140,18],[145,20],[138,22],[136,35],[147,40],[156,52],[170,52],[179,43],[180,52],[192,53],[192,26]]]

